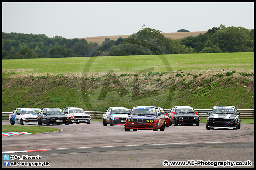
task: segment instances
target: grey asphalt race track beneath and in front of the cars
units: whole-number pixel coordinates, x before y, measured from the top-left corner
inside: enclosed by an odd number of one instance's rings
[[[62,131],[2,137],[2,157],[9,155],[9,166],[3,160],[2,168],[254,168],[254,124],[237,130],[206,130],[201,123],[129,132],[98,121],[49,127]],[[29,164],[38,162],[44,166]]]

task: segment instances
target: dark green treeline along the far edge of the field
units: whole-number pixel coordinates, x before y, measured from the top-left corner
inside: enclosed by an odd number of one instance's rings
[[[61,36],[2,32],[2,59],[220,52],[254,52],[254,29],[249,32],[243,27],[220,25],[198,36],[174,40],[159,30],[142,28],[127,38],[106,38],[102,44]]]

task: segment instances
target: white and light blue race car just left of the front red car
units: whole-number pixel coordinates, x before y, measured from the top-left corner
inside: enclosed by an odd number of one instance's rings
[[[109,107],[103,114],[103,126],[124,125],[130,112],[126,107]]]

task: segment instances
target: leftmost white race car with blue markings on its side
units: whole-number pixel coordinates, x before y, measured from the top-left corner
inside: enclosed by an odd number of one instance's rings
[[[37,124],[37,114],[33,109],[17,108],[9,114],[11,125],[15,123],[24,124]]]

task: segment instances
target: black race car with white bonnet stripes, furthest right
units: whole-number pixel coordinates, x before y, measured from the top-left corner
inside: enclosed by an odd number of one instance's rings
[[[214,106],[206,122],[206,129],[222,128],[222,129],[240,129],[241,119],[240,113],[235,106]]]

